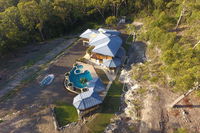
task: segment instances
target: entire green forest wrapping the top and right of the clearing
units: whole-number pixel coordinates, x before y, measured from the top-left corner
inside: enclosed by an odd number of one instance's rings
[[[161,50],[159,69],[172,87],[200,82],[199,0],[0,0],[0,55],[120,16],[145,20],[139,37]],[[185,27],[184,35],[173,32]]]

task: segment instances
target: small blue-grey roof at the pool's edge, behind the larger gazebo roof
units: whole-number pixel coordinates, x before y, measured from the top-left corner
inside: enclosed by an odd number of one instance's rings
[[[100,78],[94,78],[93,80],[91,80],[87,84],[87,87],[88,87],[89,90],[92,90],[92,91],[95,91],[95,92],[102,92],[106,89],[105,85],[102,83]]]

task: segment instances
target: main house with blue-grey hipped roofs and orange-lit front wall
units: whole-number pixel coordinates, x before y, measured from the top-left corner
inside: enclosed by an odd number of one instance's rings
[[[88,45],[94,47],[89,53],[90,60],[112,70],[121,66],[125,50],[120,34],[116,30],[99,28],[95,37],[90,37],[88,41]]]

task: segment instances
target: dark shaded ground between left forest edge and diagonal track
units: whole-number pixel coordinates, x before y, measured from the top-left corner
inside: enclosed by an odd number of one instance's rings
[[[0,57],[0,86],[7,82],[13,74],[39,60],[48,51],[63,43],[66,39],[58,38],[38,44],[32,44],[14,51],[6,57]]]

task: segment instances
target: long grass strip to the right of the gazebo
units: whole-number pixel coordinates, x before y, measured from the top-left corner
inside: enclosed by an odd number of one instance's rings
[[[96,117],[87,123],[90,133],[102,133],[110,123],[114,113],[119,110],[122,87],[123,85],[119,81],[113,82],[102,104],[101,113],[97,113]]]

